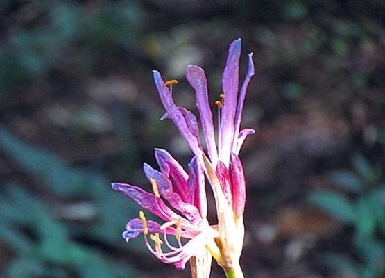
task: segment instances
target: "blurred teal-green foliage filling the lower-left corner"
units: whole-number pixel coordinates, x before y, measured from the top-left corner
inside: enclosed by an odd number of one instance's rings
[[[3,184],[0,238],[15,253],[8,277],[139,277],[132,266],[100,247],[76,240],[78,236],[92,238],[117,250],[124,244],[120,236],[123,225],[137,208],[114,193],[108,179],[98,172],[69,167],[57,156],[27,145],[4,129],[0,129],[0,149],[26,173],[44,181],[45,186],[39,189],[53,196],[46,199],[18,184]],[[55,197],[87,200],[95,206],[98,221],[75,224],[60,218]]]

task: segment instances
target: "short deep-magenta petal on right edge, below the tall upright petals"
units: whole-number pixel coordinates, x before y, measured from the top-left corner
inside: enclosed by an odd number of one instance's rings
[[[245,209],[246,181],[242,163],[235,154],[231,155],[230,176],[232,184],[232,210],[236,217],[240,217]]]

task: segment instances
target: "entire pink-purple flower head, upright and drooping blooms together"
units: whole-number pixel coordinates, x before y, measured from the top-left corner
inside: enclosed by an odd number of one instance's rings
[[[144,172],[153,185],[154,194],[122,183],[113,183],[112,187],[166,221],[166,224],[161,226],[155,222],[146,221],[141,213],[140,219],[128,222],[126,231],[123,233],[126,240],[135,238],[143,232],[146,245],[151,252],[165,263],[175,263],[178,268],[183,268],[187,260],[194,256],[196,248],[207,247],[226,272],[237,272],[239,277],[243,277],[239,267],[239,257],[243,245],[246,182],[238,154],[246,136],[255,131],[253,129],[239,131],[246,90],[254,75],[253,54],[249,54],[248,72],[239,91],[240,54],[241,39],[234,40],[230,45],[223,72],[221,101],[216,101],[218,106],[217,143],[205,72],[196,65],[187,67],[187,81],[196,92],[196,107],[200,115],[207,155],[200,142],[198,120],[195,115],[186,108],[176,106],[173,101],[169,85],[171,87],[171,84],[176,82],[164,82],[160,72],[153,71],[160,99],[166,109],[162,119],[170,118],[174,122],[194,153],[194,158],[189,164],[189,173],[187,174],[169,153],[156,149],[155,157],[161,172],[144,165]],[[212,187],[216,202],[218,224],[213,226],[209,226],[206,218],[204,176]],[[159,193],[157,193],[158,190]],[[174,213],[160,197],[166,199],[182,216]],[[155,242],[155,249],[148,243],[148,232],[155,233],[155,236],[151,236]],[[162,251],[163,242],[157,234],[161,232],[164,234],[169,252]],[[168,235],[176,236],[178,247],[168,243]],[[183,245],[180,238],[187,238],[189,241]]]

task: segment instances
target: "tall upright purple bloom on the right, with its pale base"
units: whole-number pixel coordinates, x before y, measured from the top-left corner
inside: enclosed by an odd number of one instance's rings
[[[218,218],[215,229],[219,236],[214,238],[214,245],[206,243],[206,246],[226,273],[234,272],[237,277],[243,277],[239,257],[243,245],[243,210],[246,199],[246,183],[238,154],[246,136],[255,132],[253,129],[240,131],[246,90],[254,75],[253,54],[249,54],[248,72],[239,90],[240,54],[241,39],[234,40],[223,72],[223,94],[220,95],[222,100],[216,101],[219,109],[217,142],[205,72],[196,65],[187,67],[187,81],[196,92],[196,107],[200,114],[207,155],[200,142],[196,117],[187,109],[176,106],[168,84],[163,81],[160,72],[153,71],[160,99],[166,109],[164,117],[173,120],[191,147],[214,193]]]

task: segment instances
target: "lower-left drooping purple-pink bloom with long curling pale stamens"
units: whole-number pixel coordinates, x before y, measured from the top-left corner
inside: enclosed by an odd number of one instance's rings
[[[199,246],[204,249],[205,243],[219,236],[219,233],[209,227],[206,219],[204,173],[196,157],[189,163],[188,173],[163,149],[155,149],[155,158],[160,171],[144,163],[144,172],[153,193],[125,183],[112,183],[112,188],[121,191],[165,223],[161,225],[148,221],[141,211],[139,218],[126,224],[123,238],[128,242],[143,233],[151,253],[160,261],[173,263],[182,270],[191,256],[196,255]],[[176,245],[170,242],[170,236],[175,237]],[[189,241],[184,243],[185,240]],[[203,246],[201,243],[204,243]]]

